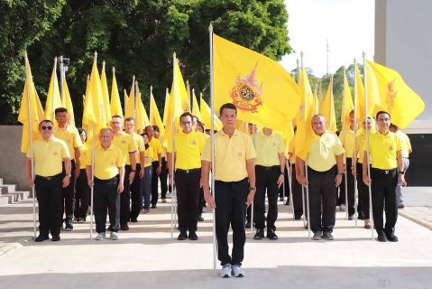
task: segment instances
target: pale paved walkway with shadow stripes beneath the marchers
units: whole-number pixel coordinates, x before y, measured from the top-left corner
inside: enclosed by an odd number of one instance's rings
[[[89,240],[87,222],[60,242],[24,243],[0,258],[0,287],[432,288],[431,230],[399,218],[400,242],[379,243],[337,212],[335,240],[309,241],[302,221],[279,208],[279,240],[247,239],[244,278],[213,276],[212,214],[198,224],[198,241],[171,241],[170,205],[160,204],[117,241]],[[31,236],[31,201],[0,207],[0,242]]]

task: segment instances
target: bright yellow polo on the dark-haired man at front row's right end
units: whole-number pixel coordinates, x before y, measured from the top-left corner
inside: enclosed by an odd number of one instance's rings
[[[366,144],[363,144],[363,151]],[[369,135],[369,150],[373,160],[372,168],[391,170],[398,167],[397,152],[402,150],[400,137],[392,132],[381,135],[380,132]]]

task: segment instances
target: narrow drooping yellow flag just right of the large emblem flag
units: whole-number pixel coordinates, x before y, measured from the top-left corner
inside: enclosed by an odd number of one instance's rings
[[[296,155],[302,160],[306,160],[310,144],[317,137],[311,124],[315,114],[315,101],[310,89],[308,73],[304,68],[300,70],[299,78],[302,98],[297,116]]]

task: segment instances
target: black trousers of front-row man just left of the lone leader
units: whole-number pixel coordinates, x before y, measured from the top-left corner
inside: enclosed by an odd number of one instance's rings
[[[179,230],[181,232],[195,232],[198,226],[199,210],[202,210],[201,206],[198,205],[201,170],[194,172],[176,170],[174,176],[177,189]]]

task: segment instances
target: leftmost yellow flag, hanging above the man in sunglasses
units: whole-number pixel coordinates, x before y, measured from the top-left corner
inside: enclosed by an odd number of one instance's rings
[[[25,54],[25,70],[28,79],[26,79],[24,84],[23,98],[21,99],[20,113],[18,115],[18,121],[23,124],[21,152],[24,154],[27,153],[30,145],[30,131],[32,131],[32,140],[36,140],[41,137],[39,124],[43,120],[43,109],[41,106],[41,100],[39,100],[39,97],[36,94],[36,89],[34,88],[32,70],[30,69],[30,63],[27,58],[27,53]],[[29,119],[32,120],[32,124],[29,124]]]

